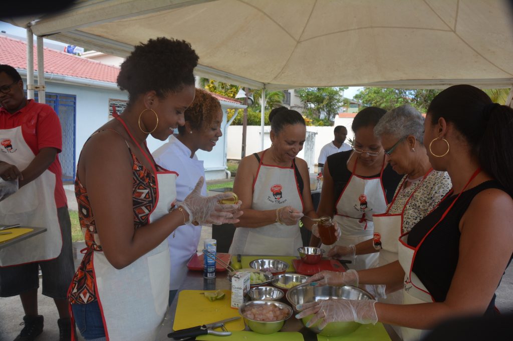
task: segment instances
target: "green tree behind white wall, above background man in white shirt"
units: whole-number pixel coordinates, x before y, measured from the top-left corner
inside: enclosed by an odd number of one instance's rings
[[[346,88],[304,88],[297,89],[297,93],[305,108],[306,116],[315,121],[324,119],[332,121],[344,103],[341,91]]]

